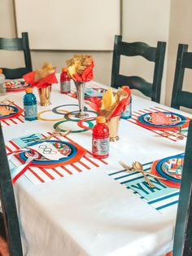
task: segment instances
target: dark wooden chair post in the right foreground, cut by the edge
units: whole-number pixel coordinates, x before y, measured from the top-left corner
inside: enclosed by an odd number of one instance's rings
[[[173,256],[192,255],[192,121],[187,136],[177,209]]]

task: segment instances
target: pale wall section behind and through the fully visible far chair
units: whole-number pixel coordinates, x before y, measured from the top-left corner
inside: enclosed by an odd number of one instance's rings
[[[156,46],[158,41],[168,42],[170,0],[123,0],[123,40],[146,42]],[[168,47],[168,45],[167,45]],[[167,52],[167,51],[166,51]],[[142,57],[124,58],[122,72],[142,74],[151,82],[154,64]],[[166,88],[167,53],[164,62],[164,75],[161,88],[161,102],[164,103]],[[141,94],[139,94],[141,95]]]

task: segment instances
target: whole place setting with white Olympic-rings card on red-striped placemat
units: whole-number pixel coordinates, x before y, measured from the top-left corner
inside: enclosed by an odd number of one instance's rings
[[[91,152],[69,139],[71,132],[63,132],[57,127],[53,132],[34,133],[8,141],[12,182],[24,174],[38,185],[107,165],[106,161],[94,159]]]

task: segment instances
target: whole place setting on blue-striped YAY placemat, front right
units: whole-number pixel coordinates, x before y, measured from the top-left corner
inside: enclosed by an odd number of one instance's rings
[[[108,170],[107,174],[163,213],[177,204],[183,160],[182,153],[147,163],[133,161],[132,165],[119,161],[124,170]]]

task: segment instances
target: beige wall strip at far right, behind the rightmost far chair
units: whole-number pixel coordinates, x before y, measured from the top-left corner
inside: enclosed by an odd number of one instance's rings
[[[168,45],[168,75],[166,104],[170,104],[172,95],[172,84],[175,73],[177,58],[177,47],[179,43],[188,44],[188,51],[192,51],[192,1],[172,0],[169,45]],[[184,89],[192,91],[192,72],[185,70]],[[185,109],[186,110],[186,109]]]

